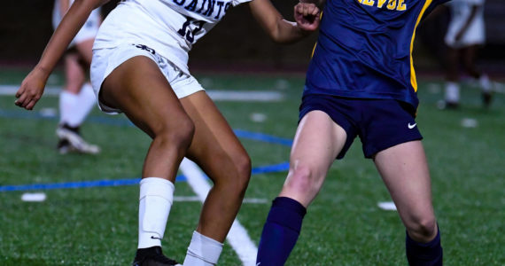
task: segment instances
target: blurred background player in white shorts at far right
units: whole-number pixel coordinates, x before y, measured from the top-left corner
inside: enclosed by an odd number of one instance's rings
[[[459,68],[462,64],[470,77],[478,81],[484,106],[491,103],[492,85],[486,74],[475,66],[478,48],[486,40],[484,24],[485,0],[453,0],[447,5],[451,20],[447,29],[447,82],[445,102],[447,108],[455,108],[460,102]]]

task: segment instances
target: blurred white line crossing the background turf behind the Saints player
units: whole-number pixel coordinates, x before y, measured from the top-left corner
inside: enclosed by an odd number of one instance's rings
[[[0,95],[14,95],[19,86],[0,85]],[[46,87],[44,96],[58,96],[60,87]],[[215,101],[243,101],[243,102],[279,102],[284,100],[284,94],[279,91],[267,90],[206,90],[210,98]]]

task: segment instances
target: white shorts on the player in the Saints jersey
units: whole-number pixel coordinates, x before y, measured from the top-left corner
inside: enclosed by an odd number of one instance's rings
[[[192,75],[184,74],[184,72],[170,62],[170,60],[160,56],[151,48],[143,44],[125,43],[116,48],[93,50],[90,76],[91,84],[97,98],[105,78],[111,74],[116,67],[136,56],[144,56],[152,59],[158,65],[159,71],[167,78],[167,82],[174,90],[177,98],[184,98],[199,90],[204,90],[197,79]],[[119,109],[105,106],[99,99],[98,106],[100,110],[105,113],[121,113]]]

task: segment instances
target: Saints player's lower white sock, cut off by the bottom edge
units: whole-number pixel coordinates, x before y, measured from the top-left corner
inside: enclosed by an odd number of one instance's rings
[[[184,266],[212,266],[217,264],[222,251],[222,243],[193,232],[188,252],[184,259]]]

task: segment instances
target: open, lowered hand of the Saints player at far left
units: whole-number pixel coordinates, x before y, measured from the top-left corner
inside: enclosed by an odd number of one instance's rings
[[[49,73],[35,66],[34,70],[21,82],[21,87],[16,92],[16,98],[18,99],[14,104],[27,110],[32,110],[43,95],[43,89],[48,77]]]

